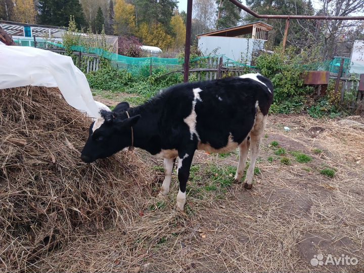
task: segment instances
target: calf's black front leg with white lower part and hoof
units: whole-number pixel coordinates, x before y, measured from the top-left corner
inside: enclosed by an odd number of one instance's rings
[[[186,187],[187,181],[190,176],[190,168],[195,150],[179,152],[178,151],[178,181],[179,181],[179,191],[177,194],[176,206],[180,210],[184,210],[186,203]]]

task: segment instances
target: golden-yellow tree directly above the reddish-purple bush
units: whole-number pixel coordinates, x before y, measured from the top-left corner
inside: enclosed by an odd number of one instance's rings
[[[117,0],[115,5],[115,33],[118,35],[131,34],[135,32],[135,7]]]

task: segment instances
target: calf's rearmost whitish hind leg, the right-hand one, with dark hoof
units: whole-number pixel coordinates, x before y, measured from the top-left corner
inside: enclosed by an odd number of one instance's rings
[[[263,116],[263,114],[259,111],[256,115],[254,126],[250,131],[250,166],[247,170],[246,180],[244,184],[244,188],[247,190],[250,190],[253,186],[252,183],[255,162],[259,154],[260,139],[264,132],[266,119],[267,115]]]

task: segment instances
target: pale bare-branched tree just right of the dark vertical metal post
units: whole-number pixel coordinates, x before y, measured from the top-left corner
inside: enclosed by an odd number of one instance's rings
[[[193,18],[201,22],[202,32],[207,32],[215,27],[216,5],[215,0],[195,0],[193,2]]]

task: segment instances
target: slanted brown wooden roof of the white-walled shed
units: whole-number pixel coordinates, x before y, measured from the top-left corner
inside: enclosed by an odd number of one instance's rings
[[[265,30],[271,30],[273,27],[271,25],[268,25],[262,21],[249,23],[241,26],[236,27],[229,27],[224,29],[218,29],[210,32],[205,32],[201,34],[197,34],[196,36],[224,36],[224,37],[236,37],[244,34],[249,34],[253,32],[253,26],[258,26],[259,28],[265,29]]]

